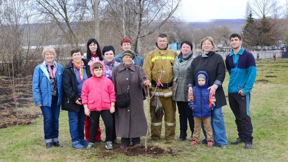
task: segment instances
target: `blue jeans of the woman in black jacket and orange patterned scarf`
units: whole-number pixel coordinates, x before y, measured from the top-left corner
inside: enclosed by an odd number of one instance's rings
[[[72,142],[84,139],[84,107],[81,105],[79,112],[68,111],[68,117]]]

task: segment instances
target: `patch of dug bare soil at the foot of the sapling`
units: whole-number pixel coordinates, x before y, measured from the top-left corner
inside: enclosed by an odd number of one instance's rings
[[[124,154],[127,156],[160,156],[164,154],[171,154],[173,156],[176,155],[175,150],[172,148],[168,147],[165,149],[162,149],[157,146],[148,146],[147,152],[145,152],[145,146],[144,145],[135,145],[133,147],[127,147],[126,149],[114,149],[111,151],[108,151],[107,153],[102,154],[102,156],[107,156],[107,155],[113,155],[113,154]],[[107,155],[105,155],[107,154]]]

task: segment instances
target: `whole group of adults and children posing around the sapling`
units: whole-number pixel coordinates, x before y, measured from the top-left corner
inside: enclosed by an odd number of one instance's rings
[[[256,77],[253,55],[242,46],[240,35],[232,34],[232,50],[225,63],[230,74],[228,97],[235,115],[238,138],[232,144],[245,142],[252,148],[252,124],[249,116],[250,91]],[[71,50],[71,60],[66,67],[55,61],[55,50],[45,47],[44,62],[33,75],[33,99],[41,108],[44,120],[46,148],[63,147],[58,139],[59,111],[68,111],[72,147],[93,149],[101,138],[99,118],[105,125],[106,148],[120,144],[120,149],[140,144],[140,137],[147,132],[143,99],[149,88],[151,112],[151,139],[161,137],[162,118],[165,123],[165,139],[173,140],[176,129],[176,104],[180,119],[180,137],[187,137],[189,121],[191,142],[199,143],[201,124],[207,147],[227,147],[222,106],[226,99],[222,83],[225,79],[225,63],[214,52],[212,37],[201,42],[202,54],[195,57],[193,45],[181,42],[181,52],[168,48],[168,37],[159,34],[155,50],[143,60],[131,50],[132,42],[124,37],[120,42],[122,52],[115,55],[113,46],[101,51],[96,39],[87,42],[87,53],[80,48]],[[128,95],[129,103],[119,103],[122,94]],[[119,98],[117,98],[119,97]],[[158,101],[157,101],[158,100]],[[117,104],[118,101],[118,104]],[[122,101],[122,99],[121,99]],[[155,106],[153,102],[161,104]],[[157,111],[162,111],[157,115]],[[85,132],[85,133],[84,133]]]

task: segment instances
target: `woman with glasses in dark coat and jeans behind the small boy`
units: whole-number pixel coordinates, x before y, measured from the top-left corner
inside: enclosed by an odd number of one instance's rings
[[[222,106],[227,105],[222,83],[225,79],[225,64],[221,55],[216,54],[215,44],[212,37],[204,37],[201,42],[202,55],[197,56],[191,63],[188,93],[192,94],[192,87],[196,85],[195,76],[199,71],[206,71],[209,75],[208,86],[210,96],[215,94],[216,106],[211,114],[211,125],[213,129],[215,146],[227,147],[225,123],[222,114]],[[204,129],[202,129],[204,130]],[[206,137],[205,131],[204,135]],[[207,143],[206,138],[202,143]]]

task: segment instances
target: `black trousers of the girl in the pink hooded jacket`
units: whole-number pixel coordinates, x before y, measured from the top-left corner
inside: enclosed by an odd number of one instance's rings
[[[99,125],[100,115],[105,125],[106,142],[112,141],[113,120],[110,110],[102,110],[101,112],[92,111],[90,113],[89,142],[95,142],[96,130]]]

